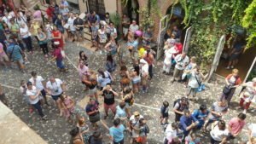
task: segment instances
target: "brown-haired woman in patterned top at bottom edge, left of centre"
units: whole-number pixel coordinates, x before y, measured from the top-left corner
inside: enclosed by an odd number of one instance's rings
[[[85,123],[84,117],[80,117],[80,118],[79,118],[77,127],[79,128],[80,133],[81,133],[81,135],[83,136],[84,144],[88,144],[88,141],[89,141],[89,135],[88,135],[88,133],[89,133],[90,131],[89,131],[88,125]]]

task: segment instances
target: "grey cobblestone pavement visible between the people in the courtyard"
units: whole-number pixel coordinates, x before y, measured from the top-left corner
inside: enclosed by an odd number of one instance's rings
[[[90,46],[89,43],[85,43],[86,47]],[[44,60],[43,53],[39,50],[36,50],[34,55],[29,55],[30,64],[27,66],[27,73],[23,74],[19,72],[16,68],[3,71],[3,67],[0,69],[0,83],[13,86],[15,88],[20,87],[20,80],[27,80],[30,78],[30,72],[36,71],[38,75],[41,75],[43,78],[49,78],[49,76],[55,76],[55,78],[61,78],[67,84],[67,94],[71,95],[73,99],[81,107],[85,107],[88,97],[86,97],[86,92],[84,92],[83,85],[79,82],[79,76],[77,70],[74,66],[78,65],[79,60],[79,50],[84,50],[86,55],[89,56],[89,67],[90,69],[97,70],[98,68],[103,68],[106,56],[104,53],[92,52],[84,47],[80,47],[77,43],[67,43],[66,54],[69,60],[65,59],[65,64],[68,67],[68,73],[58,72],[56,69],[55,63],[47,63]],[[38,49],[38,48],[37,48]],[[128,53],[128,52],[127,52]],[[128,60],[128,59],[127,59]],[[102,62],[104,61],[104,62]],[[128,67],[131,67],[131,61],[126,61]],[[183,84],[171,83],[171,76],[166,76],[161,73],[162,64],[159,61],[154,67],[154,78],[150,82],[150,87],[147,94],[138,94],[136,95],[135,104],[132,107],[132,111],[139,111],[141,114],[148,120],[148,126],[150,127],[150,133],[148,135],[148,144],[158,144],[162,143],[163,140],[163,130],[160,126],[160,112],[159,107],[161,106],[162,101],[166,100],[170,103],[170,109],[172,111],[172,103],[177,98],[185,95],[187,89]],[[119,69],[119,67],[118,67]],[[118,83],[115,83],[118,84]],[[208,107],[211,107],[212,102],[216,101],[217,96],[221,94],[223,84],[221,82],[215,81],[212,84],[209,84],[210,88],[199,93],[198,101],[191,101],[191,109],[198,108],[201,103],[207,103]],[[119,89],[117,85],[114,85],[116,89]],[[64,118],[60,118],[57,115],[57,110],[51,99],[50,102],[52,106],[44,106],[44,113],[48,116],[48,121],[42,121],[38,117],[37,112],[29,114],[26,103],[22,101],[22,97],[17,89],[4,88],[6,95],[10,101],[10,108],[15,112],[15,114],[20,117],[32,130],[35,130],[38,135],[41,135],[45,141],[48,141],[50,144],[65,144],[69,143],[69,134],[68,132],[74,127],[72,124],[68,124]],[[231,103],[230,111],[227,115],[224,116],[224,119],[229,120],[230,118],[236,117],[238,112],[241,110],[238,109],[238,97],[234,96],[234,102]],[[118,98],[119,99],[119,98]],[[103,102],[100,101],[102,104]],[[247,124],[256,123],[255,118],[256,112],[254,111],[255,105],[247,113]],[[102,109],[101,109],[102,110]],[[174,115],[171,112],[170,121],[174,120]],[[109,127],[112,126],[112,120],[107,119],[106,123]],[[8,125],[11,126],[11,125]],[[100,124],[100,130],[104,134],[104,140],[109,141],[108,130]],[[201,134],[201,133],[199,133]],[[125,134],[127,135],[127,134]],[[239,137],[239,141],[247,139],[246,131],[243,131]],[[209,135],[199,135],[201,137],[202,143],[209,143]],[[128,135],[126,136],[128,137]],[[125,143],[129,143],[129,140],[126,138]],[[237,142],[235,142],[237,143]]]

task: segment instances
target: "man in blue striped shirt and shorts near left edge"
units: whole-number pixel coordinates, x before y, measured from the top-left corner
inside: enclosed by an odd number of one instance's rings
[[[22,58],[22,55],[24,53],[20,49],[20,46],[15,43],[15,39],[13,39],[12,37],[9,39],[7,54],[9,55],[11,60],[14,60],[17,63],[17,65],[20,67],[20,71],[25,72],[25,66],[23,65],[23,58]]]

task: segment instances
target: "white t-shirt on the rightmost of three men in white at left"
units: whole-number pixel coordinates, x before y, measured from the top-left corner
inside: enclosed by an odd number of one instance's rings
[[[63,90],[61,89],[63,82],[59,78],[55,78],[55,83],[47,82],[46,88],[50,90],[51,95],[61,95]]]

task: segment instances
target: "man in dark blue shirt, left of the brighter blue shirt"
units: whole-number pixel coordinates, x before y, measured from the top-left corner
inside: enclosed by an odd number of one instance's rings
[[[179,128],[183,130],[184,137],[189,135],[190,131],[193,130],[197,124],[199,124],[198,120],[191,115],[191,112],[188,109],[185,109],[179,124]]]

